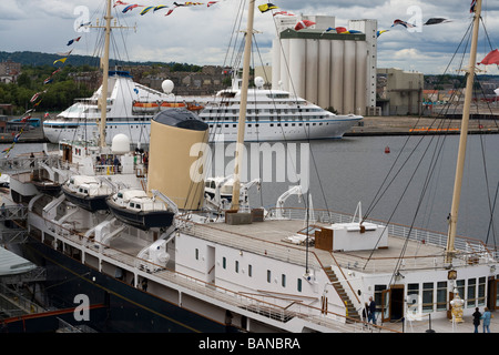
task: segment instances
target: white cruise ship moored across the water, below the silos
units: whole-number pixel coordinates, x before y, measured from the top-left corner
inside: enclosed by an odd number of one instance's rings
[[[305,99],[282,90],[263,89],[263,79],[255,79],[248,93],[245,141],[286,141],[340,139],[363,116],[336,115]],[[151,119],[170,108],[195,112],[210,126],[210,141],[235,142],[241,105],[241,80],[214,97],[175,97],[173,83],[163,82],[164,92],[134,82],[125,71],[109,73],[105,142],[116,134],[126,134],[132,142],[149,144]],[[58,116],[43,122],[43,132],[51,143],[61,140],[92,140],[99,135],[101,112],[98,100],[102,88],[89,99],[80,99]]]

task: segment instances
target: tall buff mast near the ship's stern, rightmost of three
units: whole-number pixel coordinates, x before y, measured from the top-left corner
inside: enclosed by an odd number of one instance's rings
[[[451,263],[452,257],[456,255],[456,250],[454,247],[454,242],[456,239],[457,220],[459,213],[459,202],[461,196],[461,185],[462,185],[462,174],[465,170],[465,156],[466,156],[466,143],[468,139],[468,122],[469,122],[469,111],[471,105],[471,97],[473,90],[473,79],[475,79],[475,64],[477,62],[477,42],[478,42],[478,30],[480,24],[481,16],[481,2],[478,0],[475,8],[475,19],[473,19],[473,32],[471,38],[471,50],[469,54],[469,68],[467,72],[466,80],[466,92],[465,92],[465,104],[462,108],[462,120],[461,120],[461,134],[459,139],[459,151],[456,165],[456,178],[454,184],[454,195],[452,195],[452,206],[449,214],[449,233],[447,239],[446,256],[445,262]]]

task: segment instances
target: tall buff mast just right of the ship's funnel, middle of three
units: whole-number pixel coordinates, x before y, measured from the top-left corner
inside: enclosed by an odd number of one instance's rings
[[[244,131],[246,128],[246,106],[247,106],[247,90],[249,82],[249,60],[252,54],[252,37],[253,37],[253,18],[255,14],[255,0],[249,0],[246,41],[244,44],[244,61],[243,61],[243,82],[241,87],[241,105],[240,120],[237,124],[237,144],[234,160],[234,184],[232,187],[232,210],[240,209],[240,190],[241,190],[241,166],[243,164],[243,149],[244,149]]]

